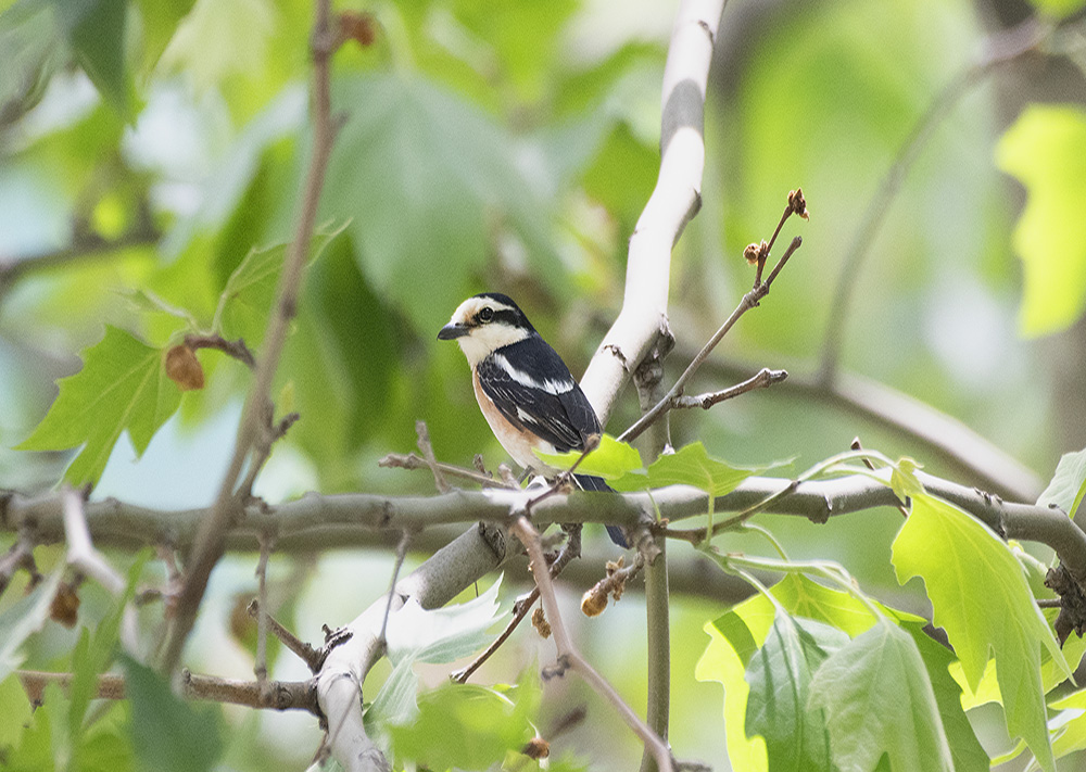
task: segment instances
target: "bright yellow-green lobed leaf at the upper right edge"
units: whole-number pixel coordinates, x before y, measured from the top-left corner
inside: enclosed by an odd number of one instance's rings
[[[1086,305],[1083,148],[1086,113],[1041,105],[1027,107],[996,148],[996,164],[1026,189],[1013,243],[1025,284],[1019,322],[1028,337],[1066,329]]]

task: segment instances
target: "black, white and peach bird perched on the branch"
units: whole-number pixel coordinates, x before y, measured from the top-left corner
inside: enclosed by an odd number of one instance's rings
[[[455,340],[471,366],[476,401],[491,431],[513,459],[529,472],[553,478],[534,451],[583,451],[603,428],[551,345],[512,298],[501,292],[472,295],[453,312],[438,340]],[[584,491],[611,491],[603,478],[574,474]],[[624,532],[607,526],[611,541],[628,547]]]

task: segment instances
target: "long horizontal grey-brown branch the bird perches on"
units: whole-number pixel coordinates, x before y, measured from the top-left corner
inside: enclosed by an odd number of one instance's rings
[[[1013,504],[933,474],[919,472],[919,476],[933,495],[961,507],[1008,539],[1048,544],[1073,570],[1086,575],[1086,534],[1060,509]],[[791,480],[782,478],[747,478],[736,490],[717,497],[714,510],[742,511],[791,484]],[[325,496],[311,493],[283,504],[248,506],[228,530],[225,545],[231,549],[254,552],[260,548],[260,534],[272,530],[276,534],[277,552],[312,550],[321,546],[372,544],[371,534],[375,531],[399,534],[403,530],[416,531],[450,523],[479,520],[503,522],[510,507],[523,505],[532,493],[454,491],[429,497],[365,493]],[[825,522],[831,516],[896,505],[897,498],[888,486],[866,476],[850,476],[804,482],[766,511]],[[658,489],[652,492],[652,496],[647,493],[559,493],[534,506],[532,517],[540,526],[596,522],[635,527],[647,512],[657,509],[661,518],[671,522],[697,517],[706,512],[706,496],[703,491],[686,485]],[[116,499],[92,502],[86,506],[87,522],[94,541],[113,546],[156,545],[172,539],[177,547],[184,548],[194,540],[199,523],[207,511],[150,509]],[[33,528],[39,544],[62,541],[64,527],[59,495],[0,497],[0,530],[16,533],[21,528]],[[473,533],[475,529],[465,537]]]

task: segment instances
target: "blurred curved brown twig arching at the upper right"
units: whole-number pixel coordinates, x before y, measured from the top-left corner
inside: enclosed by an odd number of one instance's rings
[[[851,308],[853,289],[860,275],[863,261],[871,251],[879,229],[886,220],[891,204],[905,181],[912,165],[920,157],[921,151],[934,136],[935,129],[950,114],[958,103],[981,83],[996,66],[1011,62],[1019,56],[1036,50],[1052,31],[1052,27],[1028,17],[1016,27],[992,35],[985,39],[978,55],[964,69],[959,72],[920,116],[909,136],[901,144],[894,163],[883,178],[882,185],[868,202],[859,228],[853,243],[845,253],[837,275],[837,286],[833,300],[830,302],[830,316],[826,319],[825,333],[822,340],[822,356],[819,368],[819,380],[830,383],[837,374],[841,359],[841,349],[844,345],[845,320]]]

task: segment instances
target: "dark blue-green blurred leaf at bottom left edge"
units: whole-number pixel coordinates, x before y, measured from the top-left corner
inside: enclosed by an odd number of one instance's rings
[[[141,769],[201,772],[215,767],[223,749],[218,710],[179,699],[157,673],[121,658],[131,700],[130,733]]]

